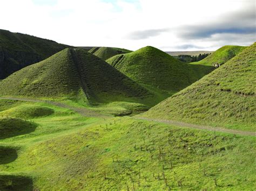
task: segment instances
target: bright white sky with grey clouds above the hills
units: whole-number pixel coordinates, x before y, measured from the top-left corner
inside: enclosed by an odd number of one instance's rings
[[[72,46],[214,51],[256,39],[256,0],[0,0],[0,29]]]

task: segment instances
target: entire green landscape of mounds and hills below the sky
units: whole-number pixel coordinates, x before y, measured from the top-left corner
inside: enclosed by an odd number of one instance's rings
[[[210,53],[0,30],[0,190],[254,190],[256,44]]]

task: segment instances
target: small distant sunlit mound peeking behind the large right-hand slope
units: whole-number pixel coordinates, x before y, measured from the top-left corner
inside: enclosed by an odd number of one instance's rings
[[[232,59],[245,48],[246,46],[223,46],[217,49],[217,51],[208,55],[205,59],[192,63],[206,66],[223,65],[225,62]]]

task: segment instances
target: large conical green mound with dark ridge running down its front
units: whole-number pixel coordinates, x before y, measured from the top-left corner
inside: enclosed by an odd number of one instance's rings
[[[68,97],[89,102],[143,102],[152,94],[97,56],[66,48],[0,82],[1,95]],[[156,104],[156,103],[154,103]]]

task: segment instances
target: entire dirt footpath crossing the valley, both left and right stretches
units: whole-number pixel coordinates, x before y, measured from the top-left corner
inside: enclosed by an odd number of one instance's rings
[[[56,105],[58,107],[67,108],[73,111],[78,112],[78,114],[86,117],[110,117],[107,115],[100,114],[97,111],[93,111],[87,108],[76,108],[72,107],[70,105],[55,102],[55,101],[48,101],[48,100],[36,100],[32,98],[21,98],[21,97],[0,97],[0,100],[18,100],[18,101],[26,101],[26,102],[41,102],[41,103],[48,103],[52,105]],[[177,122],[177,121],[171,121],[171,120],[164,120],[164,119],[151,119],[151,118],[145,118],[145,117],[138,117],[133,116],[133,119],[141,119],[145,121],[152,121],[152,122],[158,122],[158,123],[164,123],[169,125],[176,125],[183,128],[192,128],[192,129],[199,129],[199,130],[208,130],[208,131],[216,131],[216,132],[224,132],[224,133],[232,133],[237,135],[243,135],[243,136],[256,136],[256,132],[251,131],[240,131],[240,130],[234,130],[234,129],[224,129],[220,127],[212,127],[212,126],[205,126],[205,125],[197,125],[197,124],[191,124],[191,123],[185,123],[185,122]]]

